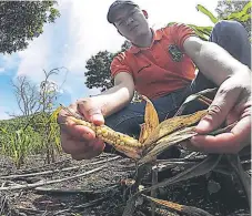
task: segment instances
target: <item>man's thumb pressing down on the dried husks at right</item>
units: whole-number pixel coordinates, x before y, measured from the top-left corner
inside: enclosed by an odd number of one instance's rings
[[[233,80],[229,80],[220,86],[212,104],[209,107],[208,114],[196,125],[195,132],[199,134],[209,133],[220,126],[224,122],[230,110],[232,110],[236,103],[238,97],[241,94],[241,89],[234,88],[230,90]]]

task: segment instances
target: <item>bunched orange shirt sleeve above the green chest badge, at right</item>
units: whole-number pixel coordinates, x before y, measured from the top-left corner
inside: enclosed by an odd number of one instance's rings
[[[169,34],[173,38],[175,44],[181,51],[184,51],[184,41],[192,35],[196,35],[194,30],[183,23],[175,23],[169,27]]]

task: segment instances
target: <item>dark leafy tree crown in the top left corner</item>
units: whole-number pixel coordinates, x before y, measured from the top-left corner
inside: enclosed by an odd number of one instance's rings
[[[43,24],[54,22],[60,12],[56,1],[0,1],[0,52],[24,50],[28,41],[43,32]]]

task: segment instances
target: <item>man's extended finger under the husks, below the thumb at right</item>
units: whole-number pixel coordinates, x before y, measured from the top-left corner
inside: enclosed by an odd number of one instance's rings
[[[242,119],[230,133],[216,136],[199,135],[191,138],[191,143],[209,153],[238,153],[251,138],[251,119]]]

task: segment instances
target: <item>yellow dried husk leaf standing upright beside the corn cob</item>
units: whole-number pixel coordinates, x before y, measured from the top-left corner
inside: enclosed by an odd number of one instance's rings
[[[143,143],[159,125],[159,115],[155,111],[154,105],[147,96],[142,95],[142,99],[147,102],[147,105],[144,113],[144,124],[141,126],[141,133],[139,136],[140,143]]]

